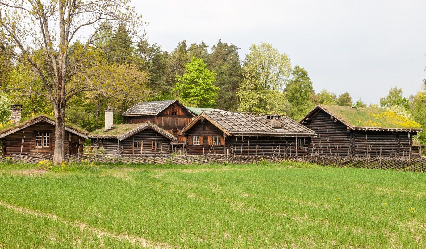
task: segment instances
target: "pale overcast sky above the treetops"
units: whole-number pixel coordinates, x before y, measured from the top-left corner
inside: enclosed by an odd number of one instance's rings
[[[389,88],[416,93],[426,78],[426,0],[133,0],[151,43],[172,51],[219,38],[245,58],[269,42],[308,71],[315,91],[379,103]],[[210,49],[210,48],[209,48]]]

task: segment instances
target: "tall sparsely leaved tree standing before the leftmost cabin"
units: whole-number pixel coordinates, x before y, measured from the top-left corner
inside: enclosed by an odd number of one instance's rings
[[[99,68],[89,70],[93,65],[87,61],[92,45],[111,34],[103,32],[106,28],[114,31],[125,25],[138,39],[138,31],[145,25],[129,4],[130,0],[0,0],[1,45],[14,48],[13,52],[2,52],[38,82],[1,90],[38,94],[52,102],[55,164],[64,159],[66,102],[75,94],[100,87],[99,80],[91,80],[98,77]],[[79,56],[72,57],[70,44],[76,40],[83,43],[77,48]]]

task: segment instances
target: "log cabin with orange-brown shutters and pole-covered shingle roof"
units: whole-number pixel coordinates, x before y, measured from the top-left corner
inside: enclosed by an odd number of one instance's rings
[[[304,156],[314,131],[288,116],[201,113],[182,129],[187,153],[239,156]]]

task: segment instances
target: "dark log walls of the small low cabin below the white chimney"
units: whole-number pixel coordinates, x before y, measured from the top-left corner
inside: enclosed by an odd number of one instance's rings
[[[118,139],[110,138],[92,138],[93,152],[96,151],[96,141],[98,141],[98,153],[103,150],[104,153],[118,153],[120,154],[170,154],[170,140],[165,136],[156,133],[153,130],[142,130],[135,134],[135,136],[130,136],[123,141],[118,141]],[[133,147],[133,141],[141,141],[141,147]],[[160,149],[154,149],[153,143],[160,142]]]

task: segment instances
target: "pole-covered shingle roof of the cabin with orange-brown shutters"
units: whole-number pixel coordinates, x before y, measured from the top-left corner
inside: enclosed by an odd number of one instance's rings
[[[317,136],[313,130],[287,116],[281,117],[280,128],[273,128],[268,125],[266,115],[233,112],[201,113],[182,132],[189,130],[201,118],[207,119],[228,136]]]

